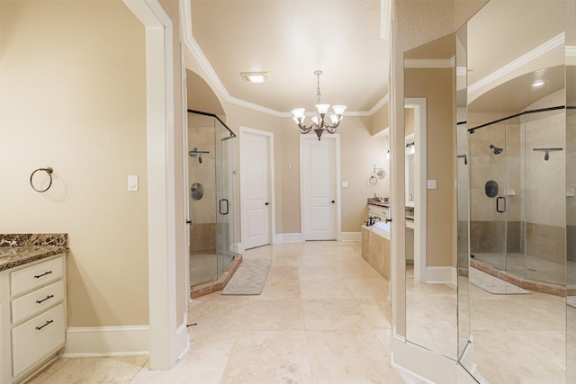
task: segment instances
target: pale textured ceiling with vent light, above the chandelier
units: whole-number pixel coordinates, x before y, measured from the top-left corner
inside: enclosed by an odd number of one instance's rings
[[[193,39],[232,98],[273,112],[321,100],[369,112],[388,94],[380,0],[192,0]],[[240,72],[266,71],[263,84]],[[361,113],[362,114],[362,113]]]

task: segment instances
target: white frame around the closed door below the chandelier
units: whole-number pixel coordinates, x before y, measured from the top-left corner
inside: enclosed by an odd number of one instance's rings
[[[300,230],[302,233],[302,241],[306,241],[306,233],[304,232],[304,190],[308,186],[307,180],[302,178],[303,170],[306,169],[305,167],[308,166],[310,168],[311,164],[304,164],[303,161],[303,151],[302,145],[304,140],[318,140],[318,138],[314,135],[300,135]],[[342,205],[341,205],[341,193],[340,193],[340,135],[335,133],[333,135],[323,136],[322,140],[335,140],[335,151],[334,151],[334,166],[335,166],[335,174],[336,178],[334,180],[334,191],[336,192],[336,240],[342,240]]]

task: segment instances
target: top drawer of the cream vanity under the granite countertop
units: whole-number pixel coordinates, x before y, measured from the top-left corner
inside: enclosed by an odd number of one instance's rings
[[[62,257],[38,263],[10,273],[10,293],[12,297],[34,290],[62,277],[64,266]]]

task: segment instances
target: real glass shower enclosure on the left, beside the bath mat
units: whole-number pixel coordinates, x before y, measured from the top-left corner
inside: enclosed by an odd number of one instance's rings
[[[188,110],[191,287],[218,281],[237,255],[236,140],[218,116]]]

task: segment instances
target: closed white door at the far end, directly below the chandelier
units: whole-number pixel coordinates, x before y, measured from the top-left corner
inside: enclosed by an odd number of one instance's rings
[[[302,237],[337,239],[337,136],[301,137]]]

